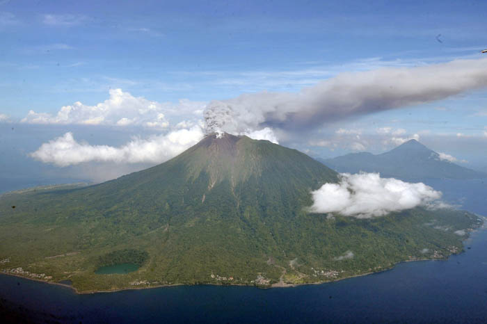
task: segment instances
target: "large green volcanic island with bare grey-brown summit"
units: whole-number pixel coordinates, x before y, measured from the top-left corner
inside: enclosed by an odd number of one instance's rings
[[[69,279],[79,291],[324,282],[447,257],[462,250],[458,230],[481,223],[449,209],[367,220],[307,213],[310,191],[335,181],[294,149],[208,136],[175,159],[103,184],[2,195],[0,269]],[[100,260],[129,255],[140,258],[130,261],[141,264],[137,271],[95,274]]]

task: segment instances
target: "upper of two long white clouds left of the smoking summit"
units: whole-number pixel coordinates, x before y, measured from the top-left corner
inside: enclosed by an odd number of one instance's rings
[[[75,102],[63,106],[56,115],[29,111],[22,122],[29,124],[103,124],[103,125],[138,125],[156,129],[169,126],[166,112],[194,113],[205,106],[203,102],[190,102],[183,99],[179,104],[159,103],[144,97],[134,97],[121,89],[109,90],[109,99],[95,106]],[[198,116],[195,115],[195,117]]]

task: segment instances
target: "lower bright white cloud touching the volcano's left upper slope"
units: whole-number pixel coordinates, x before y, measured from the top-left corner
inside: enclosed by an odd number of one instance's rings
[[[147,139],[134,138],[120,147],[79,143],[72,133],[42,144],[30,155],[44,163],[58,166],[91,161],[115,163],[162,163],[198,143],[204,136],[199,126],[179,129]]]

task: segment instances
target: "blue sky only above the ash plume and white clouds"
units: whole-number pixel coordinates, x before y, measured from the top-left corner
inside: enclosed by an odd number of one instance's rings
[[[428,63],[487,46],[483,1],[163,2],[4,1],[2,110],[95,104],[109,87],[157,101],[297,90],[329,76],[316,68]],[[273,82],[286,71],[299,75]]]

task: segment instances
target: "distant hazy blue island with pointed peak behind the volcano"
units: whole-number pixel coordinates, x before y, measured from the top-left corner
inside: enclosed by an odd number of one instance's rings
[[[333,159],[318,159],[337,172],[380,172],[383,177],[422,179],[483,179],[487,174],[442,159],[440,154],[417,140],[382,154],[351,153]]]

